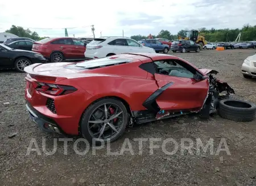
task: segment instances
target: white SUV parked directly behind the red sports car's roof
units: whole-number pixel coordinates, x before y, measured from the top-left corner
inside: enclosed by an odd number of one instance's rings
[[[84,56],[96,59],[121,53],[155,53],[155,50],[144,47],[133,39],[126,37],[101,37],[95,38],[86,45]]]

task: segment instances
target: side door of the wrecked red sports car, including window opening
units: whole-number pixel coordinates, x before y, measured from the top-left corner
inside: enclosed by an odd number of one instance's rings
[[[159,108],[174,111],[200,110],[208,96],[208,80],[196,81],[193,75],[198,72],[197,69],[181,60],[163,62],[154,61],[158,68],[154,77],[159,89],[163,90],[156,98]]]

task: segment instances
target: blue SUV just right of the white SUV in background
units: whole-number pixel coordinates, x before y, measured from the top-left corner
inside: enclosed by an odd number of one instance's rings
[[[145,47],[154,48],[156,53],[158,52],[168,53],[170,49],[168,44],[163,44],[156,39],[141,39],[141,40],[138,40],[138,42]]]

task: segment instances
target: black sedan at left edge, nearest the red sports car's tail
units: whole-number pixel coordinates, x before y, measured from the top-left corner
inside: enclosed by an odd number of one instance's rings
[[[24,72],[24,68],[33,63],[46,63],[44,56],[32,51],[13,49],[0,44],[0,69],[14,68]]]

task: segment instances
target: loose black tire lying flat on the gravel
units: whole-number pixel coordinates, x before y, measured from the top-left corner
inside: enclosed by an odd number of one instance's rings
[[[221,100],[218,105],[218,114],[222,118],[232,121],[253,121],[255,119],[256,106],[247,101]]]

